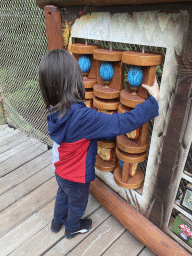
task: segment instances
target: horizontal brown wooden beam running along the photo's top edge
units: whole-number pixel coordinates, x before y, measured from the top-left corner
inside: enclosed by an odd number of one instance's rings
[[[133,4],[153,4],[153,3],[169,3],[169,2],[186,2],[186,0],[36,0],[40,8],[46,5],[56,5],[58,7],[66,7],[72,5],[85,6],[107,6],[107,5],[133,5]]]

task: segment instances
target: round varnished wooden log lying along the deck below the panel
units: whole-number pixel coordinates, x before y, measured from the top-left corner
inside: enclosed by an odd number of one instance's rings
[[[157,255],[190,256],[179,244],[158,229],[104,182],[96,178],[90,193],[141,243]]]

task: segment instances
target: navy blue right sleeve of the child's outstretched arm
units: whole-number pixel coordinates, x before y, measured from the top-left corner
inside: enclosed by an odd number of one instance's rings
[[[74,125],[71,124],[73,127],[72,140],[114,138],[141,127],[158,114],[158,103],[152,96],[124,114],[109,115],[91,108],[84,108],[76,116],[76,120],[73,120]]]

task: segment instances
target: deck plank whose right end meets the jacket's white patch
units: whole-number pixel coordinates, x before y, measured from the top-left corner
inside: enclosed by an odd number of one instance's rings
[[[51,150],[46,151],[42,155],[17,168],[14,172],[2,177],[0,179],[0,194],[3,194],[7,190],[17,186],[35,173],[39,172],[42,168],[51,164],[51,155]]]

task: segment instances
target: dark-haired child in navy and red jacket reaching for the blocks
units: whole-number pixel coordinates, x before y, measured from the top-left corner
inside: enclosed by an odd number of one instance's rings
[[[95,179],[97,140],[129,133],[158,115],[159,86],[143,85],[150,97],[130,112],[112,115],[97,112],[83,103],[85,89],[75,58],[63,49],[48,52],[39,67],[39,85],[46,108],[49,135],[53,140],[53,166],[59,185],[51,230],[65,225],[65,237],[88,232],[92,220],[81,219]]]

